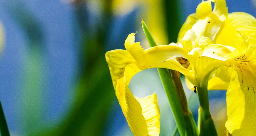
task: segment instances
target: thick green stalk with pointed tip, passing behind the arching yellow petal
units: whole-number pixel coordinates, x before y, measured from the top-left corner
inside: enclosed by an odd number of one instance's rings
[[[151,47],[157,46],[145,22],[142,27]],[[157,68],[163,87],[165,88],[173,116],[181,136],[197,136],[197,126],[187,106],[187,99],[182,87],[180,73],[174,70]]]

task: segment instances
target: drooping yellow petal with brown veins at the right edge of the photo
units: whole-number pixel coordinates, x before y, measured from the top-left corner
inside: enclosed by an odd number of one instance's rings
[[[235,65],[227,90],[225,124],[233,136],[256,135],[256,46],[234,58]]]

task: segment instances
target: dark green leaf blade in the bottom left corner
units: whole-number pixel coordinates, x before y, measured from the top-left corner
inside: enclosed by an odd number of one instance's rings
[[[1,130],[1,136],[10,136],[9,129],[4,117],[1,101],[0,101],[0,130]]]

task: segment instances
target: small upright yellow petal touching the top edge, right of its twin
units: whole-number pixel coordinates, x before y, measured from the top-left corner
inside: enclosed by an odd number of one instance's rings
[[[213,0],[214,8],[213,13],[218,16],[222,22],[226,20],[228,16],[228,8],[225,0]]]

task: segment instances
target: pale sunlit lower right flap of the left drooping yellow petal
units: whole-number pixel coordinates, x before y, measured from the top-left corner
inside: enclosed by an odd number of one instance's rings
[[[156,94],[144,98],[136,98],[141,107],[142,115],[146,119],[148,136],[159,136],[160,134],[160,111]]]

